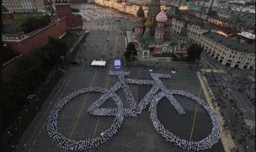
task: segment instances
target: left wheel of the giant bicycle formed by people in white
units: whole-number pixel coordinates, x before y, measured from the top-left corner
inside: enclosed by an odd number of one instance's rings
[[[67,149],[71,151],[83,151],[85,149],[92,149],[99,144],[104,144],[108,139],[110,139],[120,128],[121,123],[123,122],[124,115],[120,114],[122,110],[122,102],[120,100],[120,97],[117,95],[113,95],[112,98],[115,102],[118,102],[115,109],[108,109],[107,111],[104,111],[104,114],[102,115],[111,115],[115,116],[115,120],[108,128],[104,131],[104,134],[102,134],[100,137],[94,138],[94,139],[83,139],[83,140],[73,140],[68,139],[63,134],[59,132],[59,129],[57,127],[57,120],[59,117],[59,114],[61,113],[61,110],[63,107],[67,105],[68,102],[70,102],[74,97],[77,97],[79,95],[82,95],[84,93],[88,92],[102,92],[107,93],[108,91],[101,87],[88,87],[83,88],[81,90],[78,90],[77,92],[73,92],[69,94],[67,97],[64,97],[61,99],[60,102],[56,104],[54,109],[51,111],[51,114],[48,118],[47,122],[47,132],[51,138],[51,140],[57,144],[61,149]],[[109,98],[109,97],[108,97]],[[94,113],[94,115],[98,115],[98,113]]]

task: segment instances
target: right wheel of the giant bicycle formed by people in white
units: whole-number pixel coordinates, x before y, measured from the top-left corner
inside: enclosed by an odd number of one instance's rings
[[[180,95],[183,97],[189,97],[190,99],[194,100],[195,102],[198,102],[200,106],[204,107],[205,111],[210,115],[212,128],[211,128],[211,134],[209,134],[208,137],[205,139],[201,139],[200,141],[188,141],[185,139],[181,139],[178,136],[172,134],[169,132],[166,128],[163,127],[163,124],[160,123],[159,119],[157,118],[157,103],[166,96],[165,93],[159,92],[157,95],[152,99],[152,102],[150,104],[150,118],[153,122],[154,128],[157,130],[157,133],[162,134],[163,138],[166,139],[168,142],[174,143],[175,145],[178,145],[182,149],[190,149],[190,150],[203,150],[203,149],[210,149],[213,144],[216,144],[218,140],[221,138],[221,126],[219,125],[217,118],[215,116],[215,113],[211,111],[211,108],[200,98],[195,97],[195,95],[179,91],[179,90],[172,90],[168,93],[172,95]]]

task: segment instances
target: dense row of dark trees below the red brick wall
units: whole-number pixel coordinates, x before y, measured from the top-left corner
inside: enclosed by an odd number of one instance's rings
[[[34,94],[45,81],[53,66],[66,55],[67,45],[60,39],[49,39],[49,43],[35,50],[32,57],[21,56],[10,80],[3,84],[3,128],[7,128],[22,107],[28,104],[28,95]]]

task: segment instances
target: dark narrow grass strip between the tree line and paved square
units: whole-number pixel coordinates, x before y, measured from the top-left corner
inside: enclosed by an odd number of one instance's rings
[[[51,81],[43,86],[42,91],[40,92],[39,101],[36,103],[37,107],[41,107],[43,103],[45,102],[46,98],[50,95],[53,88],[56,86],[57,82],[61,79],[63,76],[63,72],[57,71],[56,75],[52,77]],[[3,151],[13,151],[12,145],[17,145],[19,143],[19,139],[22,137],[26,129],[29,127],[29,124],[33,121],[35,118],[35,115],[37,113],[37,110],[35,106],[31,107],[29,109],[29,112],[26,113],[23,120],[21,121],[18,131],[13,134],[13,136],[8,139],[8,141],[1,146],[1,149]]]

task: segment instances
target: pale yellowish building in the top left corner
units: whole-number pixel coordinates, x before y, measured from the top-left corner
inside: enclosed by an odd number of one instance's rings
[[[3,0],[3,5],[13,13],[44,12],[44,0]]]

